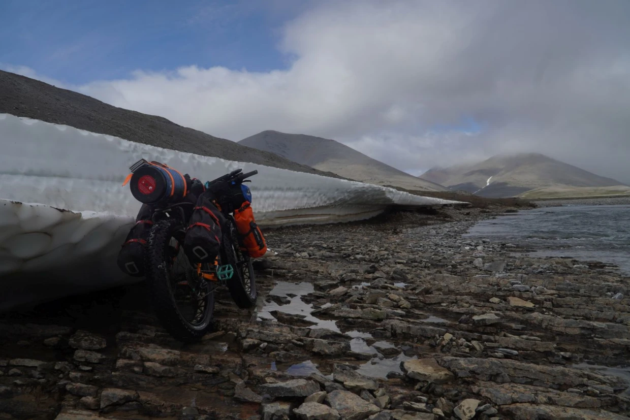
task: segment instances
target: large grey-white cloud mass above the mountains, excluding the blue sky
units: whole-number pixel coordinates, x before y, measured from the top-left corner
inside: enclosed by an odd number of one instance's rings
[[[629,16],[626,0],[324,1],[282,28],[284,69],[77,89],[231,140],[340,140],[410,173],[537,151],[630,183]]]

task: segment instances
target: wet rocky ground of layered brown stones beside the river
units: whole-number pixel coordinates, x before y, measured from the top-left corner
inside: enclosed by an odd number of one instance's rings
[[[629,280],[462,237],[488,210],[266,232],[182,345],[144,285],[6,314],[0,419],[625,419]]]

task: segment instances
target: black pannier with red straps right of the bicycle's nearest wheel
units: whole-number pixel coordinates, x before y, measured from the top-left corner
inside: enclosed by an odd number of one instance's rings
[[[221,226],[225,222],[225,216],[209,197],[200,195],[184,237],[183,248],[188,261],[214,264],[221,247]]]

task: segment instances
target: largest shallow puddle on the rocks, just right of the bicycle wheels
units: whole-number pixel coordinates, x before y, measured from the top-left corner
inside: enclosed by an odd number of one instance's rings
[[[263,301],[262,307],[258,308],[256,319],[261,321],[269,319],[275,321],[276,318],[270,314],[274,310],[285,312],[286,314],[302,315],[304,321],[314,322],[315,325],[310,328],[327,328],[331,331],[339,331],[336,321],[327,321],[319,319],[311,315],[314,310],[312,304],[307,304],[302,300],[302,296],[314,292],[312,283],[302,281],[301,283],[290,283],[289,281],[278,281],[278,283],[269,292],[270,296],[277,296],[289,300],[286,304],[277,304],[276,302]]]

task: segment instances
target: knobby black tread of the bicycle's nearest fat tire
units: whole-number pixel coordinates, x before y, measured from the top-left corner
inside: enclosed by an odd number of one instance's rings
[[[149,288],[149,296],[151,297],[156,312],[157,319],[161,322],[166,331],[174,338],[185,343],[198,341],[206,334],[212,322],[212,314],[205,329],[192,329],[185,319],[182,319],[177,309],[175,299],[171,294],[168,286],[169,279],[164,269],[160,268],[164,261],[166,246],[171,239],[171,232],[175,225],[175,220],[160,220],[157,222],[149,233],[149,241],[147,243],[146,253],[146,270],[147,270],[147,286]],[[214,300],[214,295],[212,296]],[[214,302],[207,304],[212,305],[214,310]]]

